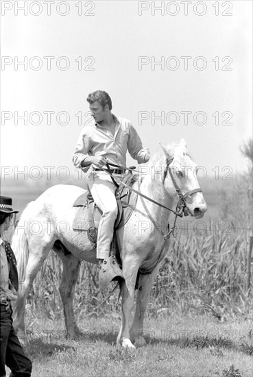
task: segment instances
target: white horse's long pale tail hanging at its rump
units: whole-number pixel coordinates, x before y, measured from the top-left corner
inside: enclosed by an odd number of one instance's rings
[[[23,211],[21,218],[16,223],[14,234],[12,236],[12,250],[16,256],[16,267],[19,273],[19,281],[24,282],[26,267],[29,257],[29,231],[28,223],[30,213],[34,202],[30,202]],[[23,284],[21,284],[23,285]]]

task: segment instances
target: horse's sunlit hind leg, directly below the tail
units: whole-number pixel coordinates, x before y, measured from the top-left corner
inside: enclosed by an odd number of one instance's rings
[[[51,241],[51,243],[46,243],[43,237],[38,235],[33,235],[29,240],[29,256],[25,271],[25,280],[19,284],[19,297],[14,304],[14,328],[16,332],[19,332],[19,338],[21,340],[22,338],[26,337],[25,303],[27,296],[32,288],[32,284],[36,278],[38,270],[43,265],[45,258],[47,258],[52,245],[53,241]]]

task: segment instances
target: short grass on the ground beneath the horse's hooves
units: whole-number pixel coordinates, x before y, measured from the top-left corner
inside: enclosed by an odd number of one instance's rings
[[[116,313],[82,317],[78,324],[83,341],[67,341],[62,320],[34,323],[25,345],[33,362],[32,377],[252,376],[251,321],[231,318],[221,323],[209,315],[149,316],[147,345],[134,351],[115,344],[120,324]],[[248,348],[242,347],[245,343]]]

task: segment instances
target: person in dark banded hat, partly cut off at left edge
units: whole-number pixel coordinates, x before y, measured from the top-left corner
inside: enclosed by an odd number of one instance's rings
[[[10,243],[3,241],[5,231],[10,228],[14,213],[12,199],[0,196],[0,243],[1,243],[1,377],[5,377],[5,365],[11,369],[10,377],[31,376],[32,362],[25,356],[19,338],[12,326],[12,301],[17,298],[19,278],[16,269],[16,258]]]

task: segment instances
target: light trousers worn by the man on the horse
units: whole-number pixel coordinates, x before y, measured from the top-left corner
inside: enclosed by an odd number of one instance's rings
[[[121,176],[120,176],[121,178]],[[105,171],[95,171],[88,178],[88,188],[102,215],[97,233],[97,258],[104,259],[110,254],[113,228],[117,219],[118,207],[115,198],[117,187]]]

